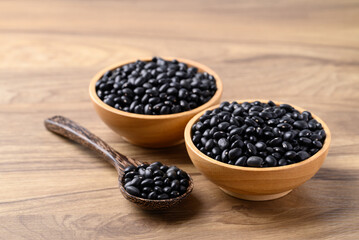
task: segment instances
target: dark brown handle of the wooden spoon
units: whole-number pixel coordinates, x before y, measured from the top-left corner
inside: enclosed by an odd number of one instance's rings
[[[141,164],[140,161],[126,157],[125,155],[117,152],[95,134],[63,116],[54,116],[46,119],[45,127],[51,132],[71,139],[100,154],[116,168],[119,174],[124,172],[126,166],[138,166]]]

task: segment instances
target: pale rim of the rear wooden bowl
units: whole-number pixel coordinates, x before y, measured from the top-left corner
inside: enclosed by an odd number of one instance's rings
[[[184,112],[180,112],[180,113],[164,114],[164,115],[146,115],[146,114],[130,113],[130,112],[125,112],[125,111],[122,111],[122,110],[118,110],[116,108],[113,108],[113,107],[107,105],[106,103],[104,103],[97,96],[96,82],[103,76],[103,74],[105,72],[107,72],[109,70],[113,70],[115,68],[121,67],[121,66],[129,64],[129,63],[134,63],[137,60],[148,62],[148,61],[151,61],[152,58],[153,57],[131,58],[131,59],[128,59],[128,60],[120,61],[120,62],[117,62],[115,64],[109,65],[109,66],[103,68],[102,70],[100,70],[99,72],[97,72],[94,75],[94,77],[91,79],[91,82],[90,82],[90,85],[89,85],[89,92],[90,92],[91,100],[95,104],[97,104],[99,107],[101,107],[101,108],[103,108],[103,109],[105,109],[105,110],[107,110],[109,112],[112,112],[114,114],[130,117],[130,118],[152,119],[152,120],[154,120],[154,119],[172,119],[172,118],[178,118],[178,117],[193,115],[194,113],[197,113],[199,111],[207,109],[208,107],[213,105],[218,99],[221,98],[222,92],[223,92],[223,84],[222,84],[221,78],[218,76],[218,74],[215,71],[213,71],[211,68],[209,68],[206,65],[201,64],[199,62],[189,60],[189,59],[185,59],[185,58],[175,58],[175,57],[160,57],[160,58],[162,58],[164,60],[167,60],[167,61],[171,61],[171,60],[176,59],[179,62],[183,62],[183,63],[185,63],[187,65],[194,66],[194,67],[198,68],[199,70],[201,70],[203,72],[207,72],[207,73],[211,74],[214,77],[214,79],[216,81],[217,90],[216,90],[215,94],[212,96],[212,98],[208,102],[206,102],[206,103],[204,103],[204,104],[202,104],[202,105],[200,105],[200,106],[198,106],[198,107],[196,107],[196,108],[194,108],[192,110],[184,111]]]

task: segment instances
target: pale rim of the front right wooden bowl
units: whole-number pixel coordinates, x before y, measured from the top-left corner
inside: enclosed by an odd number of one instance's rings
[[[236,101],[238,103],[243,103],[243,102],[254,102],[254,101],[268,102],[269,100],[265,100],[265,99],[243,99],[243,100],[233,100],[233,101]],[[273,101],[273,102],[276,105],[284,103],[284,102],[281,102],[281,101]],[[301,107],[298,107],[296,105],[293,105],[293,104],[290,104],[290,103],[286,103],[286,104],[291,105],[292,107],[294,107],[299,112],[306,111],[305,109],[303,109]],[[311,156],[310,158],[305,159],[305,160],[303,160],[301,162],[298,162],[298,163],[291,164],[291,165],[277,166],[277,167],[265,167],[265,168],[236,166],[236,165],[231,165],[231,164],[228,164],[228,163],[223,163],[223,162],[217,161],[217,160],[205,155],[204,153],[199,151],[199,149],[197,149],[197,147],[192,142],[191,129],[192,129],[193,124],[198,121],[198,119],[200,118],[200,116],[202,116],[203,113],[205,113],[208,110],[218,108],[219,105],[220,104],[217,104],[215,106],[209,107],[208,109],[205,109],[204,111],[201,111],[200,113],[196,114],[193,118],[191,118],[191,120],[188,121],[188,123],[186,125],[186,128],[185,128],[185,131],[184,131],[184,139],[185,139],[185,143],[186,143],[187,147],[189,147],[191,149],[191,151],[194,152],[198,157],[200,157],[201,159],[203,159],[205,161],[210,162],[211,164],[215,164],[215,165],[225,167],[225,168],[230,168],[232,170],[242,170],[242,171],[250,171],[250,172],[282,171],[282,170],[288,170],[288,169],[293,169],[293,168],[300,167],[300,166],[303,166],[303,165],[307,165],[307,164],[315,161],[318,158],[318,156],[325,153],[329,148],[329,145],[330,145],[330,142],[331,142],[331,133],[330,133],[330,130],[329,130],[327,124],[322,119],[320,119],[317,115],[311,113],[312,117],[322,124],[322,127],[323,127],[323,129],[324,129],[324,131],[326,133],[326,138],[325,138],[325,141],[324,141],[324,144],[323,144],[322,148],[317,153],[315,153],[313,156]]]

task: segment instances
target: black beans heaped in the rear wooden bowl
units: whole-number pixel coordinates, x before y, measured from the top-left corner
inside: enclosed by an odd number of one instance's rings
[[[96,83],[107,105],[131,113],[162,115],[206,103],[217,90],[214,77],[176,59],[138,60],[106,72]]]

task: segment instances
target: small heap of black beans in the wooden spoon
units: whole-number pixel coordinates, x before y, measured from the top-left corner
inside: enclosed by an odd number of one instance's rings
[[[134,196],[161,200],[176,198],[187,191],[189,177],[176,166],[155,162],[125,169],[123,184],[126,191]]]

